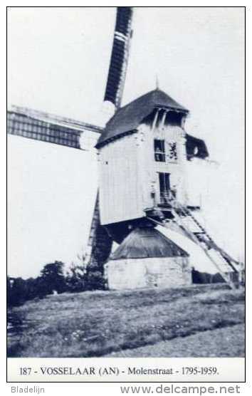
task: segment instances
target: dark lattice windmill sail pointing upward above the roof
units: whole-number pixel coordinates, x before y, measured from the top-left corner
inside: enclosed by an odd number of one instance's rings
[[[117,7],[115,33],[104,101],[120,108],[132,38],[132,7]]]

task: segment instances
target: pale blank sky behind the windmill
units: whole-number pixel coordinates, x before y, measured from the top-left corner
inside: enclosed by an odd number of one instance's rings
[[[114,24],[113,7],[9,8],[9,103],[100,123]],[[204,221],[243,259],[243,9],[135,8],[133,31],[122,105],[154,89],[157,75],[159,88],[189,108],[187,132],[218,163],[199,177],[199,186],[207,179]],[[10,139],[9,269],[36,276],[46,261],[69,263],[85,246],[96,157]],[[67,216],[56,205],[63,195]]]

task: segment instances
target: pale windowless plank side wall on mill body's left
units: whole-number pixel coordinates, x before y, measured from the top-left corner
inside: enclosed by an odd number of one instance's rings
[[[110,142],[100,150],[101,224],[142,217],[136,135]]]

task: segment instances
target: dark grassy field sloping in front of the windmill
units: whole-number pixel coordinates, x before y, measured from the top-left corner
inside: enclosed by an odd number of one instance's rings
[[[191,340],[191,354],[200,355],[200,334],[214,345],[209,346],[209,356],[243,355],[243,342],[233,350],[232,342],[230,349],[229,343],[222,348],[224,331],[222,338],[208,331],[226,328],[229,339],[242,339],[241,326],[236,325],[244,322],[244,291],[231,291],[224,284],[64,293],[29,301],[12,308],[10,315],[19,324],[9,333],[10,357],[123,356],[132,348],[166,340],[182,344],[182,338],[187,342],[192,335],[198,336]],[[176,350],[179,356],[178,348],[171,352],[170,347],[167,356],[175,356]]]

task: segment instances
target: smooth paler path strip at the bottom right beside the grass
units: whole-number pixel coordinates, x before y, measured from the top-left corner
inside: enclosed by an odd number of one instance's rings
[[[122,353],[111,353],[106,357],[118,358],[204,358],[204,357],[243,357],[244,356],[244,325],[206,330],[162,341],[141,348],[123,350]]]

